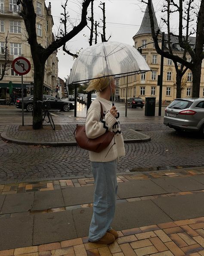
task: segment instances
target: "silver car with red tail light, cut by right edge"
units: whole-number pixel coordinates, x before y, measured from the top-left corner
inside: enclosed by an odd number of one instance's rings
[[[175,99],[165,109],[164,125],[204,135],[204,98]]]

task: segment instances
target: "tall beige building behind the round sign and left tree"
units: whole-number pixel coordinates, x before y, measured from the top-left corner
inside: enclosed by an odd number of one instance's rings
[[[47,47],[53,40],[52,28],[54,25],[51,15],[51,5],[45,5],[44,0],[34,1],[34,9],[37,14],[36,32],[37,42],[44,48]],[[0,74],[2,74],[3,65],[5,62],[5,38],[8,34],[8,59],[9,69],[3,80],[0,81],[0,98],[6,96],[9,98],[9,81],[13,83],[13,91],[15,97],[21,96],[21,76],[15,73],[12,69],[12,61],[20,56],[23,56],[31,62],[31,71],[23,76],[24,96],[29,96],[33,93],[34,86],[34,65],[31,57],[30,45],[27,42],[27,32],[25,29],[24,20],[19,16],[21,5],[17,5],[17,0],[0,0]],[[58,83],[58,58],[57,51],[53,52],[46,61],[45,77],[43,91],[46,94],[53,96],[56,94],[56,85]]]

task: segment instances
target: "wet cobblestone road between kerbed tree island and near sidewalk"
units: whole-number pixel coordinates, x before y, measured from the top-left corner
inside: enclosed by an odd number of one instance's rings
[[[150,135],[151,141],[125,144],[126,156],[118,163],[118,174],[204,165],[204,139],[198,134],[178,134],[161,123],[128,127]],[[88,152],[76,146],[25,146],[0,141],[0,155],[1,183],[92,176]]]

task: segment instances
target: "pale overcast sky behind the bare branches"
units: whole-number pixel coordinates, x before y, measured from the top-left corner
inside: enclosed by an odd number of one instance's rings
[[[57,33],[59,30],[59,19],[60,13],[63,12],[61,7],[65,0],[46,0],[46,6],[51,2],[52,15],[54,20],[53,32]],[[70,21],[75,24],[79,22],[82,0],[69,0],[68,1],[68,11],[70,15]],[[133,45],[133,36],[138,31],[145,10],[146,5],[141,3],[141,0],[102,0],[105,2],[105,16],[106,16],[106,38],[111,35],[109,40],[124,42],[129,45]],[[160,19],[161,14],[158,10],[161,9],[162,0],[153,0],[156,16]],[[98,7],[100,0],[94,0],[94,20],[101,22],[102,10]],[[158,20],[159,22],[159,20]],[[102,22],[100,23],[102,26]],[[71,25],[70,25],[71,29]],[[98,31],[102,32],[102,28],[98,28]],[[69,51],[75,53],[80,48],[87,48],[89,46],[88,38],[90,35],[90,29],[85,28],[74,37],[71,41],[67,43],[67,48]],[[101,42],[101,38],[98,37],[98,42]],[[57,54],[59,58],[59,77],[65,79],[70,74],[70,69],[74,63],[73,58],[65,54],[60,49]]]

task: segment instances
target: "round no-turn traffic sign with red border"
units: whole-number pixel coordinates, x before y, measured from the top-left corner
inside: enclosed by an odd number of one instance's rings
[[[12,62],[12,68],[15,73],[25,75],[31,70],[31,63],[24,57],[18,57]]]

